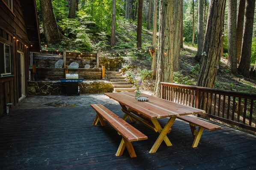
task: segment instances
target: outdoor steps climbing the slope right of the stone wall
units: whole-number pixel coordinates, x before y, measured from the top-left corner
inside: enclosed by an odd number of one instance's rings
[[[125,80],[125,77],[122,75],[121,71],[119,72],[111,72],[106,71],[105,77],[110,80],[114,87],[115,92],[134,92],[135,88],[132,88],[133,84]]]

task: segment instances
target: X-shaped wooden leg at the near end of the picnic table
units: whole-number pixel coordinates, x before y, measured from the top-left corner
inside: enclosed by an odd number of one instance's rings
[[[159,129],[158,132],[160,133],[160,135],[158,136],[157,140],[155,141],[155,144],[152,146],[149,153],[155,153],[158,150],[158,147],[160,146],[160,144],[162,143],[163,140],[165,141],[167,146],[172,146],[172,143],[170,142],[169,138],[167,137],[167,133],[170,130],[170,128],[172,127],[175,119],[176,119],[176,117],[170,117],[167,124],[164,126],[164,129],[162,129],[162,127],[160,126],[160,124],[158,123],[158,121],[156,119],[155,120],[152,119],[153,120],[152,123],[155,125],[156,128]]]

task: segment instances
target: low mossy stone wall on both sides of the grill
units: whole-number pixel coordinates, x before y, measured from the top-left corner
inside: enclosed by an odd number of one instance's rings
[[[113,86],[106,81],[83,81],[78,83],[80,94],[113,92]],[[60,81],[28,81],[28,95],[65,95],[65,83]]]

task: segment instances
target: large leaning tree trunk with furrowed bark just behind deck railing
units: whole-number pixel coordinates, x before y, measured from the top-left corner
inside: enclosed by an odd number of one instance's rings
[[[209,14],[205,32],[203,52],[206,56],[203,58],[199,73],[197,86],[213,88],[217,74],[217,66],[221,49],[222,23],[224,20],[226,0],[211,0],[209,5]]]

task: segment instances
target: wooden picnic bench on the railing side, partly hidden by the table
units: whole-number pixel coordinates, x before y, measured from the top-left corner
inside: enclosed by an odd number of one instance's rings
[[[209,130],[209,131],[221,129],[220,126],[218,126],[216,124],[212,124],[207,121],[200,120],[199,118],[196,118],[196,116],[194,116],[194,115],[178,116],[177,118],[189,123],[191,132],[192,132],[192,135],[194,138],[192,147],[197,147],[197,145],[200,141],[200,138],[202,136],[202,131],[204,129]],[[198,127],[198,130],[196,130],[196,127]]]

